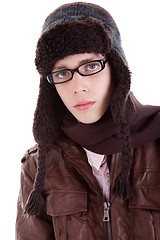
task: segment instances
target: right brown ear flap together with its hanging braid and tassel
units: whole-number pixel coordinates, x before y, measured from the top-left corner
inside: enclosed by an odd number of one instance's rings
[[[132,190],[129,173],[132,166],[132,149],[129,124],[133,121],[136,108],[130,93],[131,73],[123,60],[112,51],[110,64],[115,69],[116,86],[111,99],[110,109],[114,122],[120,126],[122,168],[115,180],[113,194],[129,199]]]

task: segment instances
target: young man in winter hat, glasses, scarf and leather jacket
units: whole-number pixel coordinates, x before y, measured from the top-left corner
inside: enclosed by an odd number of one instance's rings
[[[60,6],[35,64],[37,144],[22,159],[16,239],[160,239],[160,107],[130,92],[111,15]]]

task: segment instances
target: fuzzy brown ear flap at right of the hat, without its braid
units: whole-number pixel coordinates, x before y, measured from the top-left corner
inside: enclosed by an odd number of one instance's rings
[[[115,90],[110,108],[117,124],[129,124],[135,117],[136,109],[130,94],[131,72],[122,59],[112,50],[109,62],[115,74]]]

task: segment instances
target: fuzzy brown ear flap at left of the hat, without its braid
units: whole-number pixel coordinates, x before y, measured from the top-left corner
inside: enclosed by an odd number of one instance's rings
[[[65,106],[55,86],[50,85],[45,77],[41,77],[33,122],[33,135],[37,143],[51,144],[56,142],[64,113]]]

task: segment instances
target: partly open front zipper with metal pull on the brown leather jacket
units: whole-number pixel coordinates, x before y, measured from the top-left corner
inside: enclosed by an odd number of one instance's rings
[[[63,150],[61,149],[62,157],[63,157]],[[64,157],[63,157],[64,159]],[[84,176],[84,174],[73,164],[64,159],[64,161],[68,164],[70,164],[76,171],[83,177],[83,179],[88,183],[88,185],[91,187],[91,189],[96,192],[101,198],[102,195],[90,184],[88,179]],[[112,169],[113,169],[113,164],[114,164],[114,155],[112,155],[112,161],[111,161],[111,170],[110,170],[110,178],[112,175]],[[111,192],[111,189],[110,189]],[[107,221],[106,221],[107,219]],[[108,201],[104,202],[104,216],[103,216],[103,221],[107,223],[107,233],[108,233],[108,240],[112,240],[112,234],[111,234],[111,223],[110,223],[110,202],[109,199]]]

